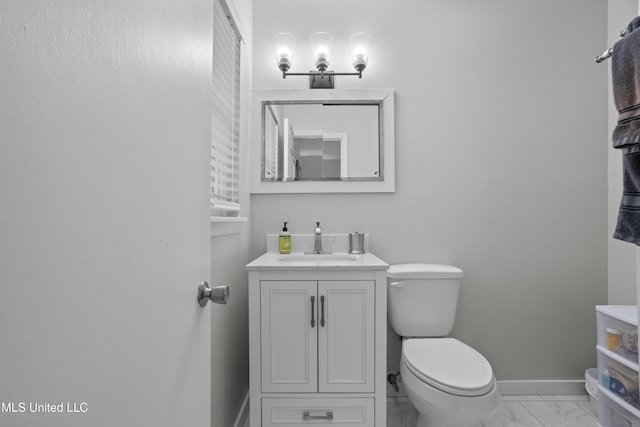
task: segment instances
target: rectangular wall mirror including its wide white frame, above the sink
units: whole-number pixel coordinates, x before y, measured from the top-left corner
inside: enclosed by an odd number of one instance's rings
[[[252,192],[393,192],[393,91],[255,91]]]

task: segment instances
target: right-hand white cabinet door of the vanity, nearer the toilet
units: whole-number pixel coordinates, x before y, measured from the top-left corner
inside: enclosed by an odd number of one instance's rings
[[[373,392],[374,282],[321,281],[318,296],[319,391]]]

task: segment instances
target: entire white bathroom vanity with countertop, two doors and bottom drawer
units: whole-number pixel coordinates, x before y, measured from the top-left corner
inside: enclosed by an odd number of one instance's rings
[[[387,268],[346,251],[247,265],[251,427],[386,425]]]

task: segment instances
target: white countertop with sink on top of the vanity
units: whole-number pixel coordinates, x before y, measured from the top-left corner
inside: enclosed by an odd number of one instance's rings
[[[306,257],[310,258],[306,260]],[[288,255],[267,252],[247,264],[247,270],[387,270],[389,264],[372,253],[349,254],[334,252],[331,255],[305,255],[302,252]]]

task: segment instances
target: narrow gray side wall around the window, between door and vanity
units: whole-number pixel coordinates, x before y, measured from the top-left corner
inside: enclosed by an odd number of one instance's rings
[[[231,0],[244,42],[241,64],[240,122],[250,121],[251,74],[253,61],[252,0]],[[240,216],[249,216],[248,129],[240,128]],[[244,154],[244,155],[243,155]],[[247,273],[251,224],[245,223],[238,234],[211,239],[211,284],[229,285],[231,297],[227,305],[211,309],[211,425],[233,426],[249,390],[249,313]]]

